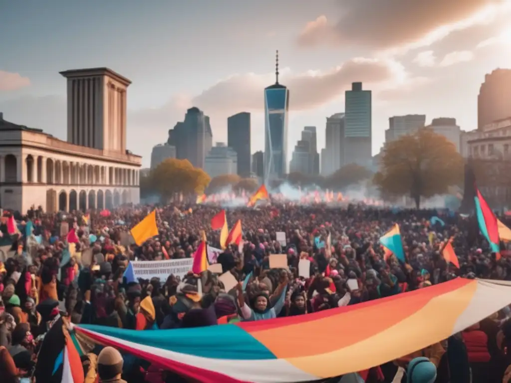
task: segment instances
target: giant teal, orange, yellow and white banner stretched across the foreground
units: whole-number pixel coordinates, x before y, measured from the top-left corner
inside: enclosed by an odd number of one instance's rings
[[[83,324],[75,330],[201,383],[289,383],[379,366],[510,303],[511,282],[457,278],[295,317],[157,331]]]

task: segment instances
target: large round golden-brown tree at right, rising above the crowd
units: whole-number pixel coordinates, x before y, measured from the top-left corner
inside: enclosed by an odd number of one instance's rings
[[[386,144],[374,182],[383,195],[408,194],[419,208],[421,197],[445,194],[462,177],[463,158],[454,143],[424,128]]]

